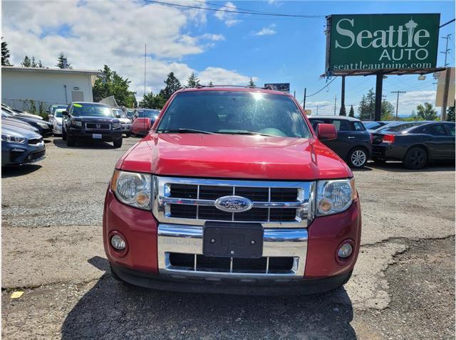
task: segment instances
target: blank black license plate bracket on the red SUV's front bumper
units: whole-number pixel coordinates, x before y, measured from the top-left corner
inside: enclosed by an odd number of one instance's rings
[[[206,222],[203,227],[204,256],[260,258],[263,255],[260,223]]]

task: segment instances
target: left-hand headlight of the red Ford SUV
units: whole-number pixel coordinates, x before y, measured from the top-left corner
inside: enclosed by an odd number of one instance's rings
[[[111,190],[122,203],[149,210],[152,201],[152,176],[115,170]]]

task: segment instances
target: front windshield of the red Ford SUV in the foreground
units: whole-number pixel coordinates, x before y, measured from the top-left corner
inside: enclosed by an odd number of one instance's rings
[[[309,138],[311,132],[293,100],[259,92],[198,91],[175,97],[157,132],[257,133]]]

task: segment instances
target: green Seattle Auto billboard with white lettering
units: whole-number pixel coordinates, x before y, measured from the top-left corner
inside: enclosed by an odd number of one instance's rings
[[[435,68],[440,14],[332,15],[327,20],[328,75]]]

